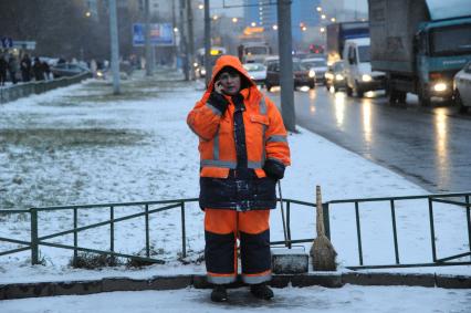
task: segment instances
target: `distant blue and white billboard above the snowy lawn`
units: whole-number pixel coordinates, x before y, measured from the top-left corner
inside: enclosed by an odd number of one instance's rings
[[[133,24],[133,45],[143,46],[146,44],[146,24]],[[170,23],[150,24],[151,45],[174,45],[174,28]]]

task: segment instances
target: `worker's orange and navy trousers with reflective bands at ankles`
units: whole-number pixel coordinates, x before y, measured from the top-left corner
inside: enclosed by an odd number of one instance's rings
[[[227,284],[236,281],[237,238],[240,240],[243,282],[255,284],[271,279],[269,220],[270,210],[205,209],[208,282]]]

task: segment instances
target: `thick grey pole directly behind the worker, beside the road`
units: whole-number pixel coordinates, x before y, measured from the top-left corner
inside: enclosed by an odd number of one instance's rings
[[[296,132],[291,34],[291,0],[278,0],[281,115],[287,131]]]

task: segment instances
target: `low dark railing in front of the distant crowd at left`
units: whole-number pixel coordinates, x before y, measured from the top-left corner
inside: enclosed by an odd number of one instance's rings
[[[60,77],[52,81],[20,83],[7,87],[0,87],[0,104],[15,101],[32,94],[41,94],[59,87],[73,85],[90,77],[92,77],[91,73],[82,73],[75,76]]]

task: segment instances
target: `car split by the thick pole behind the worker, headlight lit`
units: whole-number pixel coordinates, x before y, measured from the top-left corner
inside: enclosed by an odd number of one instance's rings
[[[300,60],[293,60],[294,87],[310,86],[315,87],[315,73],[305,67]],[[273,86],[280,85],[280,61],[272,62],[266,67],[265,87],[270,91]]]

